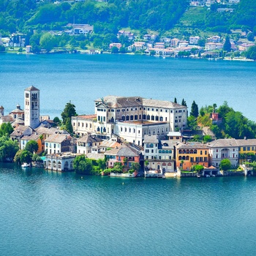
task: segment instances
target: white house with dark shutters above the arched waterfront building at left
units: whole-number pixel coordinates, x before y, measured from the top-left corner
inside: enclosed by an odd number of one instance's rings
[[[47,154],[59,154],[67,151],[74,151],[75,143],[70,135],[54,134],[45,140],[45,151]]]

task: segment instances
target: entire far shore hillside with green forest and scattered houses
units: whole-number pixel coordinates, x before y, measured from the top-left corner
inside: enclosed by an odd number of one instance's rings
[[[1,51],[256,59],[255,1],[138,1],[124,6],[121,1],[30,0],[0,1],[0,6]],[[18,7],[23,13],[10,11]]]

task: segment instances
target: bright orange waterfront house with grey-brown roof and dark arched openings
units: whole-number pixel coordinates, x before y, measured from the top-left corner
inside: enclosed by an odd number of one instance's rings
[[[209,167],[208,147],[203,143],[178,143],[176,146],[176,165],[183,170],[191,170],[193,165]]]

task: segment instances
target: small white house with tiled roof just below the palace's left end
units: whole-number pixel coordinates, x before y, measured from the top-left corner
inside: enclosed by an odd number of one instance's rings
[[[87,135],[77,140],[77,153],[86,155],[89,153],[99,153],[99,146],[102,141],[101,138],[88,132]]]

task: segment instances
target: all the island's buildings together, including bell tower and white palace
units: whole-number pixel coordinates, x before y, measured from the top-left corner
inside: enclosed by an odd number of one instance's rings
[[[0,107],[0,125],[11,124],[10,138],[20,150],[27,143],[37,142],[42,163],[34,166],[53,171],[72,171],[76,157],[84,156],[104,165],[97,174],[121,177],[210,177],[228,175],[222,161],[230,169],[251,175],[244,165],[256,154],[256,139],[215,139],[208,143],[190,141],[186,130],[187,106],[175,102],[143,97],[105,96],[95,99],[91,115],[72,116],[73,134],[60,129],[49,116],[40,116],[39,89],[30,86],[24,91],[24,110],[17,105],[5,115]],[[211,120],[221,121],[213,112]],[[29,164],[29,163],[28,163]],[[117,168],[118,167],[118,168]],[[118,171],[116,171],[118,169]],[[111,171],[113,170],[113,172]]]

